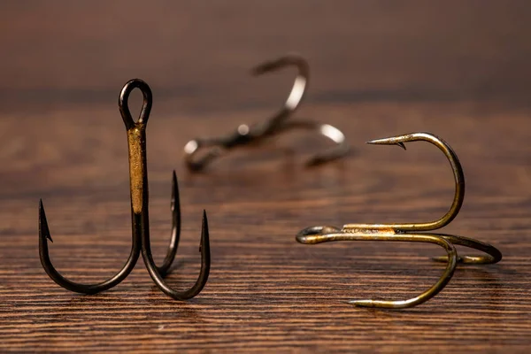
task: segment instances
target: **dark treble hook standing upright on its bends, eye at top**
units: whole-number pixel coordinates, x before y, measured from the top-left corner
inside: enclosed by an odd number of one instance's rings
[[[128,98],[134,89],[140,89],[143,96],[142,110],[139,119],[135,122],[129,112]],[[175,254],[179,247],[181,235],[181,207],[179,201],[179,188],[177,177],[173,171],[172,180],[172,237],[168,247],[165,260],[162,266],[156,266],[151,255],[150,248],[150,213],[149,193],[148,193],[148,169],[146,156],[146,125],[150,118],[152,105],[151,89],[148,84],[140,79],[127,81],[119,94],[119,112],[127,130],[127,146],[129,150],[129,182],[131,191],[131,224],[132,224],[132,246],[126,264],[112,278],[97,284],[81,284],[69,281],[51,264],[48,250],[48,240],[51,240],[50,229],[44,212],[42,200],[39,203],[39,254],[42,267],[48,273],[51,280],[55,281],[61,287],[83,293],[96,294],[112,287],[123,281],[135,267],[136,261],[142,258],[151,278],[166,295],[176,300],[187,300],[199,294],[204,288],[211,265],[210,241],[208,234],[208,221],[206,212],[203,212],[203,223],[201,228],[201,271],[196,283],[192,288],[185,291],[176,291],[165,284],[163,277],[173,263]]]

